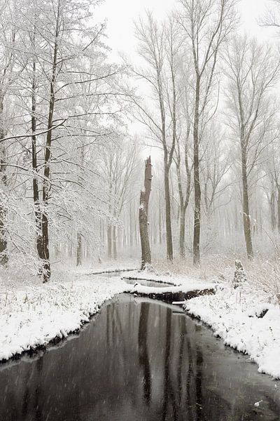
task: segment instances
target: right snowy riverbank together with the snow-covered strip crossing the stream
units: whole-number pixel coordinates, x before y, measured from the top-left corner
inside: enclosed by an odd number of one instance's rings
[[[215,280],[203,282],[199,276],[172,276],[154,272],[130,272],[127,278],[146,279],[155,282],[171,283],[174,286],[160,288],[162,292],[176,293],[179,290],[214,288]],[[230,276],[233,279],[233,273]],[[236,290],[230,281],[218,282],[215,295],[202,295],[186,301],[188,314],[207,323],[214,335],[221,337],[225,345],[248,354],[250,361],[258,364],[260,373],[280,378],[280,307],[273,305],[269,294],[264,293],[251,282]],[[216,283],[217,285],[217,283]],[[158,288],[136,286],[136,293],[157,293]]]

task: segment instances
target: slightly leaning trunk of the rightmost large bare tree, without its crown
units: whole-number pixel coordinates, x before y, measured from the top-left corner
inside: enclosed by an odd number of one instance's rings
[[[248,259],[253,258],[253,245],[251,236],[251,220],[249,213],[248,199],[248,178],[247,178],[247,156],[244,142],[241,144],[241,165],[242,165],[242,189],[243,189],[243,227],[246,241],[246,252]]]

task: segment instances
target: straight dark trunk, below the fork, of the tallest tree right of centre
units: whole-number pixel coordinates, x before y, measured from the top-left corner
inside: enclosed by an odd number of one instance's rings
[[[200,264],[200,139],[199,139],[199,109],[200,109],[200,76],[197,75],[195,88],[195,119],[193,127],[193,181],[195,187],[195,218],[193,227],[193,264]]]

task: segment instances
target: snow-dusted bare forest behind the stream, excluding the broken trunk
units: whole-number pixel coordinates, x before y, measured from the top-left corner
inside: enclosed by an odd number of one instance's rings
[[[1,265],[48,281],[139,255],[146,154],[155,258],[277,255],[278,39],[243,33],[236,1],[182,0],[114,63],[98,3],[1,1]]]

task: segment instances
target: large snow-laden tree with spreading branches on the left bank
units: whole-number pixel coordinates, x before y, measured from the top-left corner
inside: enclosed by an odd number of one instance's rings
[[[102,210],[105,193],[96,183],[92,149],[95,142],[109,136],[109,121],[118,121],[116,114],[122,111],[120,67],[105,64],[104,25],[92,27],[89,22],[95,3],[25,0],[15,4],[20,17],[18,36],[5,43],[13,76],[13,84],[5,85],[15,109],[15,116],[6,121],[15,123],[8,126],[5,121],[0,146],[10,156],[2,156],[1,168],[5,174],[6,168],[10,173],[14,168],[14,174],[13,189],[1,204],[17,201],[18,207],[9,208],[3,229],[8,232],[10,250],[29,255],[29,263],[36,262],[44,282],[50,277],[50,249],[59,248],[62,236],[70,241],[69,249],[76,250],[73,244],[79,246],[82,232],[83,238],[92,233],[89,215],[92,220],[107,215]],[[10,111],[8,107],[4,103],[4,110]],[[106,128],[102,127],[105,119]],[[27,217],[30,206],[35,224]],[[22,216],[26,229],[13,227],[15,215]],[[36,235],[36,255],[32,234]]]

